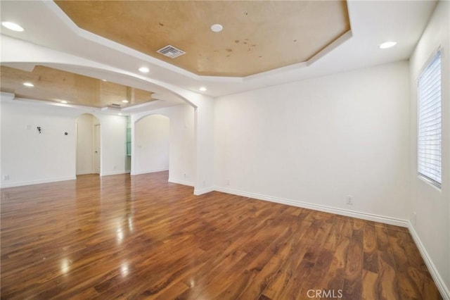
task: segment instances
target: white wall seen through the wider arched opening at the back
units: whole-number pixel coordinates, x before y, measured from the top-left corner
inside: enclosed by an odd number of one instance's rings
[[[147,115],[134,126],[134,174],[169,170],[169,118]]]

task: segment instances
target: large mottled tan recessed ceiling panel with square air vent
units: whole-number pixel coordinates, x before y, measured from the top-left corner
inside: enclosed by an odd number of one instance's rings
[[[346,1],[56,1],[84,30],[198,75],[308,61],[350,30]],[[210,26],[223,25],[222,32]],[[186,54],[156,51],[172,45]]]

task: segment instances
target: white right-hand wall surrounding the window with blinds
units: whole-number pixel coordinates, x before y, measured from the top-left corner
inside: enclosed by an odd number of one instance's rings
[[[427,28],[410,58],[410,164],[413,236],[423,246],[425,261],[434,266],[431,270],[442,294],[450,299],[450,2],[439,1]],[[442,47],[442,188],[437,189],[417,175],[417,85],[423,66]],[[429,265],[430,266],[430,265]],[[436,272],[434,272],[436,271]]]

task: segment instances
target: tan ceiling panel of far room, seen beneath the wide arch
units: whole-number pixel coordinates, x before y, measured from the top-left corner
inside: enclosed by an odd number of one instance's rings
[[[96,108],[125,108],[155,100],[152,92],[42,65],[34,67],[32,72],[4,65],[0,68],[1,92],[13,93],[17,98],[67,101],[68,104]],[[34,87],[23,85],[25,82]],[[124,100],[128,102],[124,103]]]

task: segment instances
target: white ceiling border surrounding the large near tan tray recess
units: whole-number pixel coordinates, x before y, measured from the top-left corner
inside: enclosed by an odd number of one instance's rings
[[[8,39],[4,35],[22,39],[108,65],[120,72],[106,73],[96,68],[81,68],[64,63],[49,65],[53,68],[104,78],[136,88],[143,87],[141,80],[136,78],[145,76],[151,78],[153,82],[155,80],[165,82],[192,92],[217,97],[408,59],[436,3],[436,1],[348,1],[352,27],[349,35],[328,47],[314,61],[248,77],[205,77],[189,73],[80,29],[53,1],[1,1],[1,20],[13,21],[25,28],[25,32],[12,32],[2,27],[1,37],[4,41]],[[378,49],[378,44],[388,40],[397,41],[397,46],[385,50]],[[1,49],[1,61],[4,63],[4,46]],[[28,63],[10,61],[4,64],[15,68],[32,68],[32,64]],[[143,65],[150,68],[148,75],[142,75],[137,70]],[[198,88],[201,86],[207,87],[207,92],[199,92]],[[167,90],[160,87],[151,87],[151,90],[160,94],[160,98],[171,97],[167,94]],[[164,106],[165,102],[167,105],[174,105],[176,99],[173,98],[172,96],[158,107]]]

